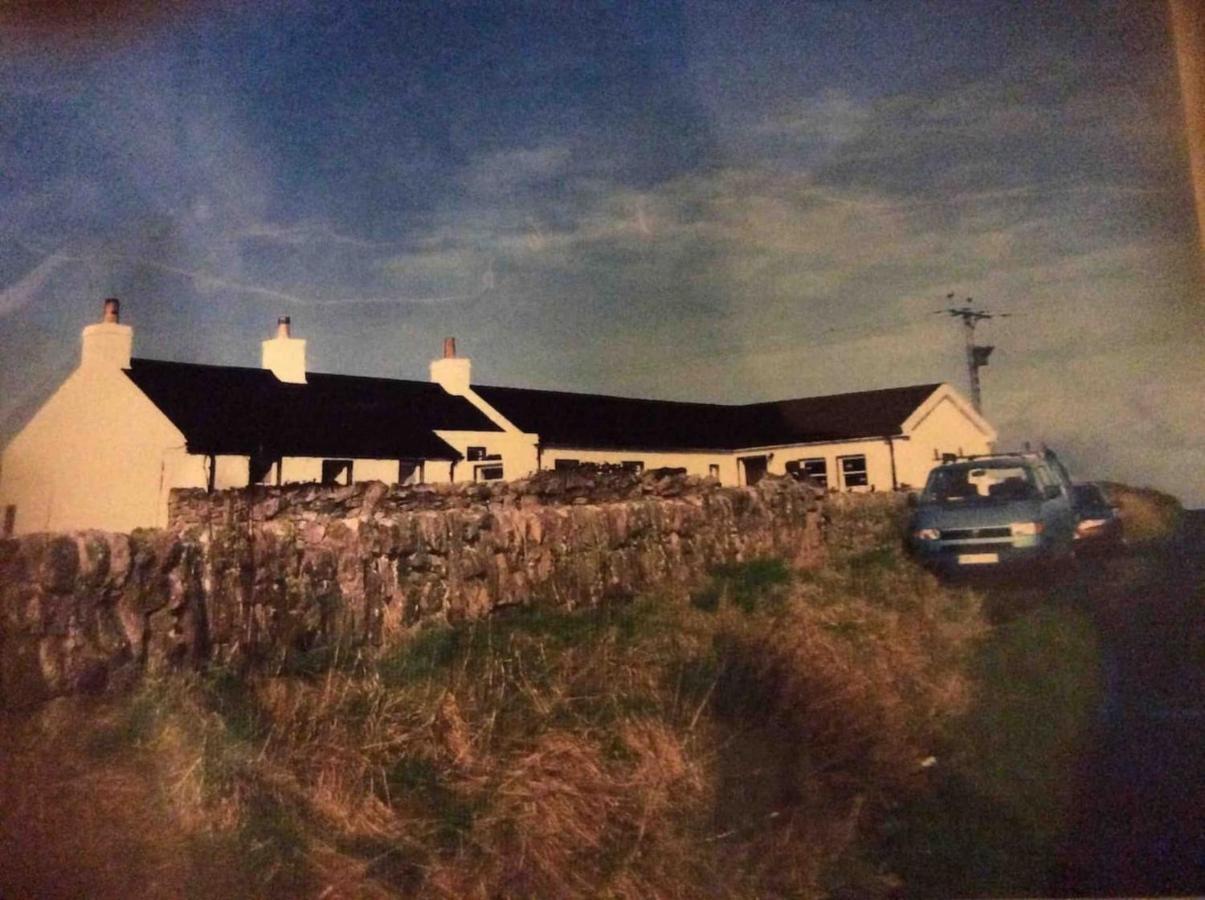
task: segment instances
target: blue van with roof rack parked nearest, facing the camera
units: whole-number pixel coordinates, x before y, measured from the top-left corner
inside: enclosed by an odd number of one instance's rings
[[[915,500],[909,548],[940,572],[1070,565],[1076,512],[1053,451],[951,457]]]

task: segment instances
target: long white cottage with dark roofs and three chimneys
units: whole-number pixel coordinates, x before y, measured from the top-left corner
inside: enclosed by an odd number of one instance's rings
[[[995,440],[948,384],[747,405],[488,387],[452,339],[429,382],[325,375],[307,371],[288,318],[261,367],[195,365],[133,357],[119,319],[106,300],[80,367],[0,458],[2,534],[163,525],[172,488],[495,481],[582,463],[889,490]]]

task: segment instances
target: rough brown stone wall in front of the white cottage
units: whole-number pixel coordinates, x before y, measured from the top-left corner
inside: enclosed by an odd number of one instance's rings
[[[686,592],[718,563],[816,565],[821,498],[668,471],[174,492],[169,529],[0,541],[0,707],[148,670],[278,671],[507,606]]]

